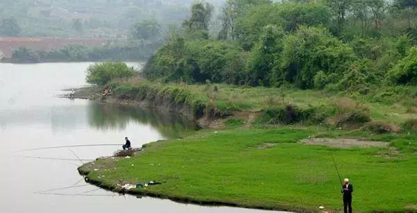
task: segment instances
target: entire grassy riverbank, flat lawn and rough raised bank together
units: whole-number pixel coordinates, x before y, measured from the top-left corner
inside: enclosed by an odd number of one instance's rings
[[[415,114],[400,105],[407,100],[389,104],[311,90],[142,80],[113,87],[105,101],[177,110],[218,125],[148,144],[131,158],[101,158],[80,167],[95,185],[181,202],[294,212],[319,212],[323,205],[337,212],[333,155],[355,186],[355,212],[416,212],[417,136],[404,125],[405,115]],[[309,138],[318,139],[303,141]],[[163,184],[122,189],[151,180]]]

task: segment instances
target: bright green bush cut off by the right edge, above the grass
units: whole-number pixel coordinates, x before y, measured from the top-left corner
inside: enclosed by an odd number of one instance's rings
[[[389,78],[396,84],[417,85],[417,47],[409,50],[408,56],[400,60],[391,71]]]

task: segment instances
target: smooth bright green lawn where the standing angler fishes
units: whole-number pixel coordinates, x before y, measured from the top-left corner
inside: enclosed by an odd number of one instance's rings
[[[307,137],[384,140],[388,148],[330,148],[297,143]],[[130,159],[85,164],[88,178],[107,187],[163,181],[138,190],[188,201],[214,201],[281,210],[341,210],[341,176],[354,185],[354,212],[416,212],[417,136],[312,128],[201,130],[149,144]],[[95,171],[97,168],[99,170]],[[342,177],[342,178],[343,178]],[[138,192],[136,191],[136,192]]]

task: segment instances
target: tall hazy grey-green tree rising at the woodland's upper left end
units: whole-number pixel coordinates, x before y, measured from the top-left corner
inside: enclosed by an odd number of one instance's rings
[[[210,19],[213,12],[213,6],[202,0],[195,1],[191,6],[191,17],[183,22],[183,27],[189,31],[208,31]]]

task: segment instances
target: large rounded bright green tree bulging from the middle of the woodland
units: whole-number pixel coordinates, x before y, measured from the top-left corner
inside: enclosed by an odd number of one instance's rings
[[[283,41],[281,64],[275,67],[277,79],[313,88],[318,71],[343,74],[356,59],[353,50],[323,28],[301,26]],[[279,83],[279,82],[278,82]]]

